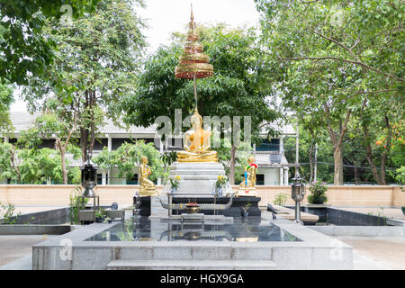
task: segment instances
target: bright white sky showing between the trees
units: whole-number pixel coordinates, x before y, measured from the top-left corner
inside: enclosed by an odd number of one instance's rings
[[[168,44],[172,31],[185,31],[190,21],[193,4],[196,23],[227,23],[230,27],[258,24],[259,14],[253,0],[144,0],[145,9],[136,7],[136,12],[147,20],[144,31],[152,53],[160,44]],[[14,91],[11,111],[26,111],[25,103],[19,100],[19,90]]]

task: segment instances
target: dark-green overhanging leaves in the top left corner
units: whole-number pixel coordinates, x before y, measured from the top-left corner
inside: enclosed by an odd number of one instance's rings
[[[43,35],[48,19],[77,18],[94,10],[98,0],[0,0],[0,77],[18,85],[26,76],[46,73],[53,40]],[[63,19],[62,19],[63,20]]]

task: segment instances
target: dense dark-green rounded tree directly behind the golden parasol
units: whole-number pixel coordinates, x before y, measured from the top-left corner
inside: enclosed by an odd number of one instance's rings
[[[224,25],[201,26],[198,30],[204,53],[214,67],[214,76],[197,81],[200,114],[219,118],[250,116],[252,139],[259,139],[262,124],[274,121],[278,113],[266,103],[269,86],[255,33],[243,29],[227,30]],[[175,34],[175,40],[182,39],[183,34]],[[123,98],[124,121],[148,126],[160,115],[166,115],[173,122],[175,109],[181,109],[183,115],[193,112],[192,81],[175,78],[175,66],[181,52],[182,48],[173,43],[159,47],[148,58],[139,88]],[[224,130],[222,127],[221,131]],[[234,183],[237,147],[237,143],[232,142],[229,150],[231,184]]]

